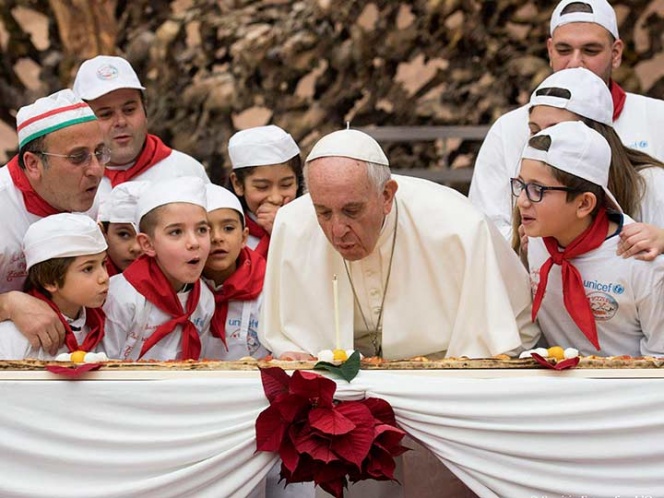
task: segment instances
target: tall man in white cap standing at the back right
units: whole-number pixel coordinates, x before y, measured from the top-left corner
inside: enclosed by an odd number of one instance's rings
[[[563,0],[551,16],[547,41],[553,71],[585,67],[609,86],[612,121],[622,142],[664,160],[664,101],[626,93],[611,79],[620,66],[623,42],[616,14],[606,0]],[[501,116],[489,130],[475,162],[469,197],[506,238],[512,203],[506,178],[514,176],[528,140],[528,105]]]

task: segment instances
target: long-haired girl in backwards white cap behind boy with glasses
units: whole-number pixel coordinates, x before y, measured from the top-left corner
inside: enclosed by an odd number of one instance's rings
[[[664,248],[664,240],[658,240],[664,239],[658,228],[664,227],[664,164],[622,144],[613,129],[612,109],[611,92],[599,76],[585,68],[563,69],[532,93],[528,126],[535,134],[563,121],[583,121],[608,141],[612,151],[609,190],[626,214],[644,222],[630,224],[620,237],[651,241],[651,247],[637,257],[652,259]]]

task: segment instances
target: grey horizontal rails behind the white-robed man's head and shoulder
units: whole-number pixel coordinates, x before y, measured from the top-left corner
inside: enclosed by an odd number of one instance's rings
[[[360,130],[374,137],[378,142],[433,142],[442,140],[444,163],[447,161],[448,140],[461,139],[481,142],[484,140],[489,125],[482,126],[372,126],[360,128]],[[450,168],[443,169],[412,168],[392,169],[397,175],[417,176],[443,185],[470,184],[473,176],[473,168]]]

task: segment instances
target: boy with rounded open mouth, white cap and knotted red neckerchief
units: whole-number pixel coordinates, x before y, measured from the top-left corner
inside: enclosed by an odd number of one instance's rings
[[[143,255],[111,280],[107,354],[126,360],[197,360],[211,340],[214,297],[201,283],[210,251],[205,183],[150,185],[136,207]]]

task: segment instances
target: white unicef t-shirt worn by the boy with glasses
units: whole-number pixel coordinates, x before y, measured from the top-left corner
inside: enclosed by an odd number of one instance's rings
[[[625,216],[625,224],[634,221]],[[616,256],[614,235],[597,249],[572,259],[581,274],[597,324],[597,351],[565,309],[561,266],[553,265],[537,314],[549,345],[574,347],[583,355],[664,355],[664,256],[652,262]],[[528,241],[533,295],[539,270],[549,259],[541,238]]]

